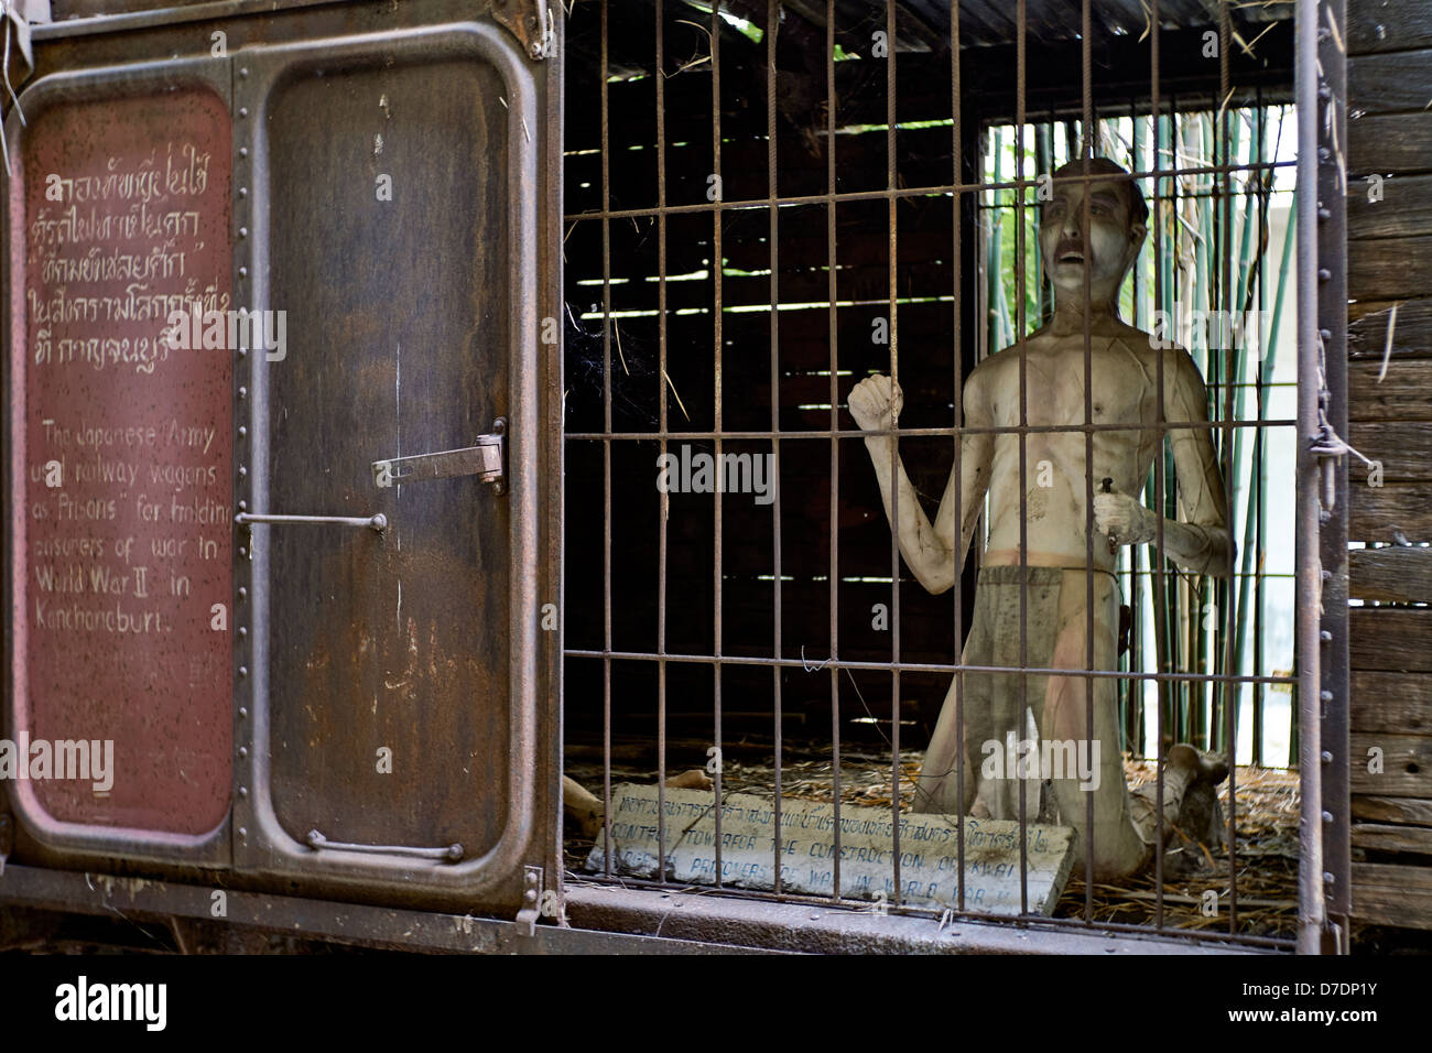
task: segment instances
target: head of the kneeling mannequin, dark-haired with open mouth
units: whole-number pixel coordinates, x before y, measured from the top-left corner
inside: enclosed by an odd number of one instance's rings
[[[1084,165],[1080,160],[1054,172],[1053,198],[1040,213],[1040,251],[1057,302],[1083,302],[1088,265],[1091,302],[1113,305],[1143,245],[1148,206],[1138,183],[1127,179],[1128,172],[1108,158],[1093,158],[1088,169],[1087,185],[1081,179]]]

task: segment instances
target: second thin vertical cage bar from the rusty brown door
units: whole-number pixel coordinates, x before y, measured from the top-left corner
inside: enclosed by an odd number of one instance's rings
[[[666,456],[666,11],[656,0],[656,332],[657,414],[662,456]],[[664,463],[664,461],[663,461]],[[670,496],[662,494],[656,534],[656,855],[662,861],[659,881],[666,883],[666,516]]]

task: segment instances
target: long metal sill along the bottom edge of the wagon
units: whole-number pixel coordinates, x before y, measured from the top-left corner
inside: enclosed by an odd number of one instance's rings
[[[223,914],[215,915],[216,893]],[[7,867],[0,904],[112,917],[125,923],[219,923],[239,931],[364,947],[463,954],[1227,954],[1236,946],[1189,944],[1151,934],[1085,933],[965,920],[881,917],[828,905],[752,903],[723,895],[667,895],[614,887],[569,887],[570,924],[514,921],[334,900],[252,893],[231,885]],[[1266,953],[1266,951],[1264,951]]]

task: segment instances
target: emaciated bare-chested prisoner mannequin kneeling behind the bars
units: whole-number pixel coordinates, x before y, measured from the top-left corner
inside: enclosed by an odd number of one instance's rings
[[[961,523],[955,524],[955,474],[931,523],[911,487],[902,463],[891,473],[891,437],[869,434],[871,454],[891,516],[899,486],[899,547],[915,579],[932,593],[949,589],[961,567],[975,524],[990,497],[988,542],[981,560],[975,610],[964,663],[1031,669],[1087,668],[1088,577],[1094,579],[1093,635],[1095,670],[1117,670],[1118,583],[1114,552],[1121,544],[1154,540],[1156,514],[1137,494],[1154,456],[1163,448],[1158,424],[1158,355],[1153,338],[1118,317],[1118,291],[1138,255],[1148,209],[1128,173],[1106,158],[1090,162],[1085,189],[1083,163],[1054,173],[1053,198],[1040,216],[1040,249],[1054,285],[1055,309],[1047,325],[1022,341],[1027,423],[1065,430],[1032,431],[1024,441],[1020,474],[1017,433],[962,433],[959,437]],[[1088,195],[1088,229],[1084,196]],[[1085,292],[1085,269],[1088,289]],[[1094,431],[1093,466],[1085,464],[1084,327],[1090,331],[1093,423],[1127,424],[1127,430]],[[1017,427],[1020,420],[1021,345],[981,362],[965,381],[967,427]],[[1163,410],[1173,444],[1183,520],[1163,521],[1164,552],[1194,573],[1226,576],[1232,539],[1223,479],[1209,436],[1203,378],[1183,348],[1163,352]],[[851,414],[871,433],[895,427],[902,397],[889,377],[861,381],[849,397]],[[1088,566],[1085,523],[1087,480],[1094,481],[1093,567]],[[1104,480],[1111,480],[1106,487]],[[1024,569],[1021,570],[1021,484],[1025,501]],[[1107,491],[1106,491],[1107,490]],[[1020,655],[1020,605],[1027,605],[1027,655]],[[964,706],[964,801],[974,815],[1017,818],[1015,771],[981,776],[987,758],[1008,741],[1028,739],[1028,722],[1041,745],[1060,744],[1063,756],[1094,761],[1091,778],[1042,771],[1063,824],[1090,835],[1087,795],[1094,798],[1095,878],[1130,874],[1153,854],[1157,837],[1154,785],[1130,794],[1118,749],[1117,681],[1114,678],[1038,676],[1025,679],[1028,713],[1021,703],[1020,675],[965,672],[965,698],[951,685],[919,774],[915,809],[958,811],[955,781],[957,713]],[[958,683],[958,679],[957,679]],[[1093,683],[1093,735],[1085,716],[1085,689]],[[1053,778],[1051,778],[1053,775]],[[1063,775],[1063,776],[1061,776]],[[1194,785],[1216,785],[1226,765],[1187,745],[1170,749],[1164,772],[1166,830]],[[977,779],[977,776],[979,776]],[[1081,788],[1081,784],[1084,788]],[[1027,794],[1027,818],[1038,809],[1038,792]],[[1083,862],[1083,848],[1080,851]]]

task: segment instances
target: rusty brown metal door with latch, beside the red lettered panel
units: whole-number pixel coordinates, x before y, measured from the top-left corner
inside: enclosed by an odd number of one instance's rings
[[[266,325],[236,451],[235,861],[536,907],[556,809],[537,311],[556,63],[480,20],[245,46],[233,66],[238,298]]]

